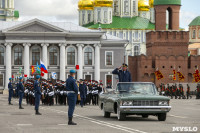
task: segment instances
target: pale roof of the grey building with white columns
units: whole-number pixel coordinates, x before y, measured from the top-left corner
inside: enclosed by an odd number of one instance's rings
[[[12,30],[17,30],[19,28],[23,28],[29,25],[33,24],[41,24],[47,28],[54,29],[59,32],[63,33],[70,33],[70,34],[77,34],[77,33],[84,33],[87,35],[94,35],[94,34],[101,34],[103,40],[108,41],[120,41],[123,43],[128,42],[127,40],[123,40],[121,38],[106,34],[105,32],[99,31],[99,30],[91,30],[88,28],[84,28],[81,26],[78,26],[76,24],[73,24],[71,22],[45,22],[39,19],[32,19],[30,21],[0,21],[0,33],[1,32],[10,32]],[[55,32],[56,34],[57,32]]]

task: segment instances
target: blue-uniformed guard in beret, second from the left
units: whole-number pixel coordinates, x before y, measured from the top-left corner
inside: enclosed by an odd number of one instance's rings
[[[22,99],[23,99],[23,96],[24,96],[24,85],[23,85],[23,78],[20,77],[19,78],[19,84],[18,84],[18,95],[19,95],[19,109],[24,109],[22,107]]]

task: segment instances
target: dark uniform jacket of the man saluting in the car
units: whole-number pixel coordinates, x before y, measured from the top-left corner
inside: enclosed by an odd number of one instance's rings
[[[122,71],[116,68],[112,74],[117,74],[119,77],[119,82],[132,82],[131,73],[129,71]]]

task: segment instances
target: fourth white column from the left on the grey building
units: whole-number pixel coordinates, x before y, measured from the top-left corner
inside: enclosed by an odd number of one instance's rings
[[[66,44],[59,44],[60,46],[60,80],[65,81],[65,47]]]

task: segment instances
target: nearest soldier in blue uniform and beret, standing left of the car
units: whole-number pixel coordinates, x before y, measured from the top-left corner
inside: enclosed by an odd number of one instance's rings
[[[66,80],[66,90],[67,90],[67,101],[68,101],[68,125],[77,125],[72,121],[73,113],[77,101],[78,86],[76,80],[74,79],[76,75],[75,70],[70,70],[70,77]]]

